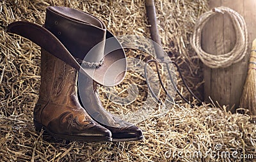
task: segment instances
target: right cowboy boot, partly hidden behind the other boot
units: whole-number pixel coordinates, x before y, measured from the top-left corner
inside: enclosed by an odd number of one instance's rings
[[[93,120],[108,128],[112,141],[132,141],[143,139],[140,128],[125,122],[104,109],[99,98],[99,85],[92,78],[79,75],[79,100]]]

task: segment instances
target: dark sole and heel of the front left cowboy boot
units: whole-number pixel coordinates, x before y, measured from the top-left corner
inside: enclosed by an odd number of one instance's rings
[[[63,140],[79,141],[79,142],[111,142],[112,138],[108,136],[70,136],[70,135],[60,135],[52,133],[44,125],[34,120],[35,129],[40,132],[42,129],[45,130],[49,135],[54,138],[59,138]]]

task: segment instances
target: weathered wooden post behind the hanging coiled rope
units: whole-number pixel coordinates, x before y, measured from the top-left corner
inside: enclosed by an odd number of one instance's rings
[[[243,61],[228,68],[211,69],[204,66],[205,100],[218,101],[220,105],[229,105],[236,112],[243,92],[248,59],[252,41],[256,38],[256,1],[255,0],[209,0],[209,8],[226,6],[244,17],[248,29],[248,52]],[[236,43],[236,33],[228,15],[218,14],[212,17],[202,31],[202,48],[207,53],[225,54]],[[233,108],[232,108],[233,107]]]

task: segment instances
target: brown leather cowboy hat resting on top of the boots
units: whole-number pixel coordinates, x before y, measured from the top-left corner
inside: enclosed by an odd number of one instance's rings
[[[18,21],[7,31],[35,42],[100,85],[122,82],[127,70],[124,49],[98,18],[63,6],[49,6],[46,17],[44,27]]]

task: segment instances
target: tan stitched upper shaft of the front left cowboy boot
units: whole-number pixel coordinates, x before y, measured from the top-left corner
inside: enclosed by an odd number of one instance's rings
[[[42,49],[38,103],[71,106],[72,96],[77,96],[77,70]]]

